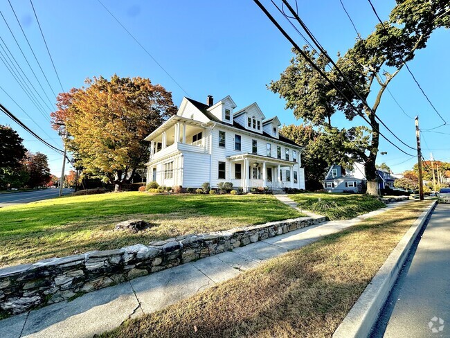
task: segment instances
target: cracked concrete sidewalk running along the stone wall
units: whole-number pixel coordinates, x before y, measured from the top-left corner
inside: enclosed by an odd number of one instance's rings
[[[162,310],[208,287],[233,278],[264,260],[304,247],[408,202],[389,204],[352,220],[324,222],[268,238],[197,262],[84,294],[0,321],[0,337],[92,337],[126,319]]]

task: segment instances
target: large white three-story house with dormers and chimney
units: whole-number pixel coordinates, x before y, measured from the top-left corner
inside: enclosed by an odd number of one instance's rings
[[[183,98],[177,115],[145,138],[150,141],[147,182],[163,186],[305,188],[302,148],[280,134],[256,103],[235,111],[230,96],[213,104]]]

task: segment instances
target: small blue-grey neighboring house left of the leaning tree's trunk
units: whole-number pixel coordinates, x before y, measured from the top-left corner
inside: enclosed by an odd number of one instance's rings
[[[363,163],[354,163],[350,170],[334,164],[325,174],[323,188],[328,193],[361,193],[365,183],[366,174]]]

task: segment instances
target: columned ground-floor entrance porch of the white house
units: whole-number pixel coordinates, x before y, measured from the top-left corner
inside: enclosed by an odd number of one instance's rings
[[[297,162],[248,153],[233,155],[227,159],[231,166],[229,172],[233,186],[240,186],[246,192],[258,187],[280,189],[298,186],[298,173],[294,177]],[[287,170],[284,180],[281,170]]]

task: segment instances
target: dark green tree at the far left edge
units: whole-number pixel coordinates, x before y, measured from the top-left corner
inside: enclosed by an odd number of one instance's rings
[[[23,141],[11,127],[0,125],[0,189],[20,187],[26,182],[21,168],[26,154]]]

